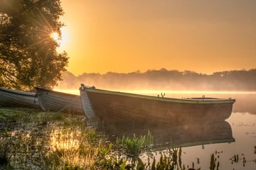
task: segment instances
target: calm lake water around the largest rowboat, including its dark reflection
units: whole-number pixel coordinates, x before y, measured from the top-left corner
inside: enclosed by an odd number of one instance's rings
[[[69,93],[72,91],[69,91]],[[235,98],[230,118],[220,122],[193,125],[162,125],[161,127],[108,127],[107,134],[117,136],[146,135],[150,130],[159,141],[157,147],[181,145],[182,164],[195,169],[209,169],[210,155],[214,154],[219,169],[256,169],[256,92],[214,92],[214,91],[127,91],[137,94],[165,97],[216,97]],[[78,94],[77,91],[73,94]],[[156,152],[156,157],[160,157]],[[238,158],[235,160],[235,157]]]

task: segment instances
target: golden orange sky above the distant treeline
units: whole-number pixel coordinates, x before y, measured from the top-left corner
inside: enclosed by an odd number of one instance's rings
[[[68,71],[256,68],[255,0],[62,0]]]

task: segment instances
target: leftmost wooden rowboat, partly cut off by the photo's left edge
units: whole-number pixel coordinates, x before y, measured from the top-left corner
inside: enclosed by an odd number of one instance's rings
[[[0,106],[16,108],[40,108],[36,93],[0,87]]]

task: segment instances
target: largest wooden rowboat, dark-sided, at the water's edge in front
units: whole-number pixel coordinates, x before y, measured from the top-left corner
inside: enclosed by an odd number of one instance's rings
[[[181,123],[225,120],[232,113],[232,98],[164,98],[119,91],[80,88],[85,115],[104,122]]]

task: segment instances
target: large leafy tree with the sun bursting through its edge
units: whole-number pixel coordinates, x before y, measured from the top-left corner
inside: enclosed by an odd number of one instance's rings
[[[0,0],[0,4],[0,86],[52,89],[68,66],[68,54],[57,52],[59,44],[51,36],[61,35],[64,26],[60,0]]]

